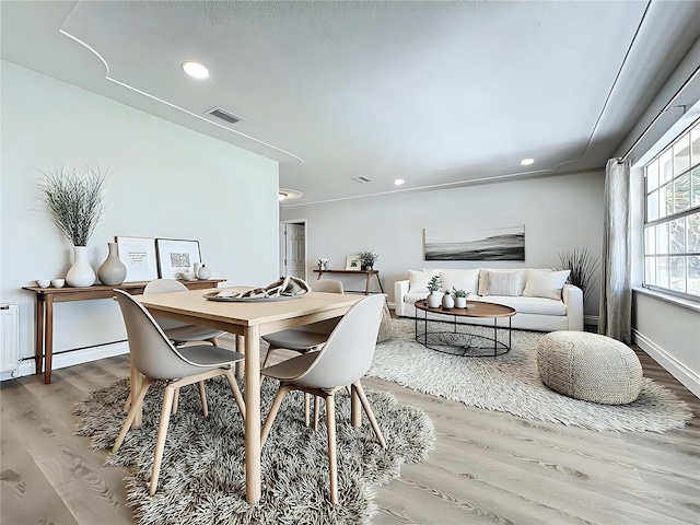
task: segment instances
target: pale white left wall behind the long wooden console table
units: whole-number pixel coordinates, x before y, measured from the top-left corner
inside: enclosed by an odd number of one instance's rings
[[[90,242],[95,269],[107,242],[132,235],[198,240],[212,277],[229,284],[279,277],[276,162],[8,61],[1,72],[0,293],[20,305],[21,357],[34,354],[34,295],[21,287],[63,277],[71,256],[37,198],[37,170],[114,170],[106,217]],[[55,306],[56,352],[125,336],[112,301]]]

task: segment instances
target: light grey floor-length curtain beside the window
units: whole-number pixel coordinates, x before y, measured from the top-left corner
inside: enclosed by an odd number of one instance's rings
[[[631,342],[630,165],[610,159],[605,168],[598,332]]]

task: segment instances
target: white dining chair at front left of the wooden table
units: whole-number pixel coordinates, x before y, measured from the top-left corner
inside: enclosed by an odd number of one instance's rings
[[[149,387],[156,381],[165,382],[155,451],[153,453],[153,471],[151,472],[149,487],[149,493],[153,495],[158,489],[158,479],[161,472],[161,462],[175,393],[183,386],[199,383],[202,411],[207,417],[209,410],[202,388],[203,382],[211,377],[225,375],[238,409],[245,419],[245,402],[232,369],[233,364],[243,361],[245,358],[238,352],[214,347],[213,345],[192,345],[177,348],[161,329],[153,316],[140,303],[122,290],[115,290],[114,292],[117,294],[116,299],[121,308],[121,315],[127,328],[131,365],[143,374],[143,381],[112,448],[113,453],[116,453],[121,443],[124,443],[131,423],[143,405]]]

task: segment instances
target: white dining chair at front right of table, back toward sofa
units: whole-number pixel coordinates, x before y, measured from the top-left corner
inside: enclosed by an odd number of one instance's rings
[[[358,395],[377,441],[382,447],[386,448],[386,442],[360,383],[360,378],[372,364],[383,305],[384,295],[370,295],[363,299],[342,316],[319,351],[288,359],[261,371],[262,375],[280,381],[279,390],[262,428],[262,445],[288,392],[302,390],[324,398],[328,429],[330,501],[334,504],[338,503],[334,397],[338,389],[350,387],[351,392]]]

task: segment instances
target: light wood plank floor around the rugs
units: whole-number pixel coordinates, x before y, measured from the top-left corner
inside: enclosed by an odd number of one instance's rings
[[[665,434],[591,432],[526,421],[366,378],[422,408],[438,436],[430,458],[404,465],[376,490],[373,523],[699,524],[700,401],[640,352],[646,376],[688,401],[695,418]],[[0,522],[135,523],[125,506],[127,468],[73,435],[73,405],[129,373],[127,357],[1,385]]]

